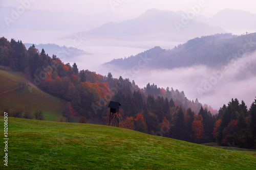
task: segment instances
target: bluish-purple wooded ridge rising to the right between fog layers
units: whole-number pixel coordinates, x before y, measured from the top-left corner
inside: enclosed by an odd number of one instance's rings
[[[150,50],[128,58],[114,59],[103,66],[118,69],[132,69],[142,58],[150,60],[147,68],[188,67],[193,65],[218,66],[232,58],[241,57],[245,52],[256,50],[256,33],[235,36],[232,34],[215,34],[194,38],[172,50],[163,50],[156,46]]]

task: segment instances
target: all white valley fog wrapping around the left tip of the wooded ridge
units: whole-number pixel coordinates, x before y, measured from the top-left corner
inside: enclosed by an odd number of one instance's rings
[[[90,42],[90,43],[88,43]],[[227,104],[232,98],[244,100],[249,107],[256,96],[256,53],[245,54],[242,58],[234,59],[225,67],[219,66],[210,68],[204,65],[194,65],[186,68],[168,69],[146,69],[119,70],[100,66],[114,58],[124,58],[136,55],[149,48],[154,47],[151,43],[137,42],[133,45],[119,42],[120,46],[108,45],[104,42],[101,45],[93,44],[92,41],[82,43],[82,50],[92,55],[78,56],[76,58],[63,58],[65,63],[76,62],[79,70],[89,69],[101,75],[108,75],[111,72],[114,78],[129,78],[131,81],[143,88],[147,83],[156,84],[158,87],[173,87],[184,91],[189,100],[195,101],[198,98],[202,104],[208,104],[214,109],[219,109]],[[158,42],[162,48],[173,48],[179,42]],[[146,45],[144,45],[146,44]],[[152,45],[152,46],[151,46]],[[135,63],[136,65],[136,63]]]

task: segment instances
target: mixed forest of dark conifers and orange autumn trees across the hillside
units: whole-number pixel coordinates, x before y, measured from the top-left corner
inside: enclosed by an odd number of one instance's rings
[[[48,56],[35,45],[26,49],[21,40],[0,38],[0,65],[22,72],[34,87],[20,82],[22,88],[39,88],[67,102],[62,115],[67,122],[107,125],[108,103],[121,104],[119,127],[195,143],[256,149],[256,99],[245,104],[230,99],[219,110],[188,100],[183,91],[160,88],[148,83],[144,88],[125,77],[102,76],[79,70],[76,63],[63,63],[58,56]],[[216,100],[216,99],[212,99]],[[0,104],[0,109],[8,110]],[[17,114],[20,112],[21,114]],[[12,116],[32,118],[34,113],[13,111]],[[37,115],[37,114],[34,114]],[[40,117],[40,116],[39,116]],[[37,118],[37,117],[34,117]],[[40,118],[39,118],[40,119]]]

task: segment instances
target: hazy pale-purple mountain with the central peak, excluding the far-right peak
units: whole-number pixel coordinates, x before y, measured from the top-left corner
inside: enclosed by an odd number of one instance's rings
[[[135,19],[105,23],[81,33],[89,38],[100,39],[184,41],[197,36],[226,32],[196,20],[190,20],[177,29],[175,24],[178,22],[183,23],[182,16],[178,13],[151,9]]]

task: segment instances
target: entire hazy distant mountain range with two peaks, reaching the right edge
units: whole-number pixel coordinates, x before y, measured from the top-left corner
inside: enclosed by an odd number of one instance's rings
[[[172,40],[184,41],[203,35],[232,33],[232,30],[256,32],[256,14],[225,9],[207,18],[202,15],[187,18],[186,13],[151,9],[141,16],[81,32],[89,38],[118,40]]]

